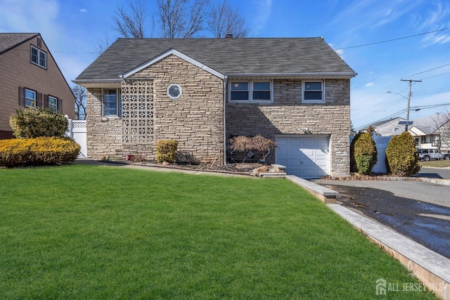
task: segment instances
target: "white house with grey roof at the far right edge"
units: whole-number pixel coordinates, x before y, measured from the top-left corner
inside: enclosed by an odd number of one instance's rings
[[[413,120],[409,133],[416,148],[450,150],[450,113],[436,114]]]

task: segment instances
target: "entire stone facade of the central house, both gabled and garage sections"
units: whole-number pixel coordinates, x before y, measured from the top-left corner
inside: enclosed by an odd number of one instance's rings
[[[148,138],[130,138],[127,117],[101,117],[101,89],[88,89],[87,134],[88,156],[123,158],[140,154],[155,158],[157,141],[174,139],[179,143],[179,156],[204,163],[224,162],[224,81],[178,56],[167,56],[133,74],[127,81],[146,81],[153,96],[151,120],[153,128],[142,129]],[[122,89],[124,89],[122,84]],[[167,87],[179,84],[182,95],[172,99]],[[275,141],[276,136],[328,136],[330,139],[330,175],[349,174],[350,97],[349,79],[325,81],[326,103],[303,104],[302,80],[275,79],[274,102],[226,103],[226,134],[255,136],[261,134]],[[123,90],[124,91],[124,90]],[[125,104],[124,104],[125,107]],[[125,110],[124,110],[125,111]],[[150,116],[148,115],[148,116]],[[148,117],[150,118],[150,117]],[[139,120],[138,120],[139,122]],[[134,132],[138,132],[136,129]],[[137,134],[137,133],[136,133]],[[267,157],[273,163],[274,152]]]

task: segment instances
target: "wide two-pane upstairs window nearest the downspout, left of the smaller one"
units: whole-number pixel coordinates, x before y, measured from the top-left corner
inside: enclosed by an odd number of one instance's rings
[[[271,81],[231,81],[229,85],[230,102],[272,103]]]

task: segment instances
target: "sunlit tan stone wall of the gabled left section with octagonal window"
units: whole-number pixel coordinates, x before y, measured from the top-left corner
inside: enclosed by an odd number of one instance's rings
[[[178,141],[180,157],[205,163],[223,162],[223,80],[178,58],[168,56],[130,78],[153,81],[153,141],[124,143],[122,119],[101,121],[101,89],[89,89],[87,96],[87,152],[89,157],[122,158],[141,154],[155,158],[159,140]],[[147,78],[147,79],[146,79]],[[172,100],[167,87],[179,84],[182,95]]]

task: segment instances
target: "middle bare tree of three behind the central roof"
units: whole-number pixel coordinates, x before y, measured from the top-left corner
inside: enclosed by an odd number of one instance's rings
[[[162,37],[189,39],[203,30],[210,0],[157,0]]]

